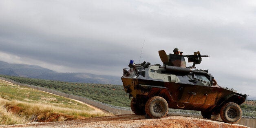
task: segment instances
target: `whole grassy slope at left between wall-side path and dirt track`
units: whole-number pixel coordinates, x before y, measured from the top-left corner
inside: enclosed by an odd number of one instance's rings
[[[99,113],[72,99],[0,81],[0,124],[66,121],[101,117]]]

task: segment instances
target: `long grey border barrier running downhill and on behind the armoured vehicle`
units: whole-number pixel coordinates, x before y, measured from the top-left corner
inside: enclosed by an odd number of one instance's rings
[[[63,97],[76,99],[76,100],[79,100],[81,102],[85,102],[86,104],[90,104],[92,106],[96,106],[97,108],[106,110],[107,112],[113,113],[114,115],[134,114],[132,112],[132,110],[128,107],[113,106],[113,105],[110,105],[110,104],[105,104],[105,103],[102,103],[102,102],[95,101],[93,99],[88,99],[86,97],[80,97],[80,96],[76,96],[76,95],[66,94],[66,93],[62,93],[60,91],[52,90],[52,89],[49,89],[49,88],[43,88],[43,87],[29,85],[29,84],[22,84],[20,82],[16,82],[12,79],[7,79],[7,78],[4,78],[4,77],[0,77],[0,79],[5,80],[7,82],[11,82],[13,84],[17,84],[19,86],[34,88],[34,89],[42,90],[42,91],[45,91],[45,92],[48,92],[48,93],[53,93],[55,95],[60,95],[60,96],[63,96]],[[195,111],[195,110],[181,110],[181,109],[171,109],[170,108],[169,111],[168,111],[168,114],[170,114],[170,115],[182,115],[182,116],[189,116],[189,117],[201,117],[201,111]],[[243,118],[245,118],[245,119],[243,120]],[[245,125],[245,126],[248,126],[247,124],[249,122],[249,127],[255,127],[256,126],[256,111],[242,110],[242,119],[239,122],[242,122],[242,125]],[[238,124],[240,124],[239,122],[238,122]]]

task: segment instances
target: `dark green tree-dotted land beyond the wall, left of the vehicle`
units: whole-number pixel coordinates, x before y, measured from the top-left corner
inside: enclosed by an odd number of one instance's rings
[[[12,79],[23,84],[50,88],[67,94],[87,97],[113,106],[130,107],[129,94],[125,93],[122,85],[60,82],[7,75],[0,75],[0,77]]]

